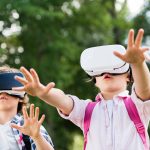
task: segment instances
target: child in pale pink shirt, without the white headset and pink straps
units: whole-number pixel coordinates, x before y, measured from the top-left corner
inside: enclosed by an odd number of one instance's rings
[[[134,84],[130,97],[138,110],[142,124],[147,129],[150,119],[150,73],[144,57],[144,52],[148,48],[141,47],[143,34],[144,30],[140,29],[134,40],[134,30],[131,29],[128,34],[126,53],[121,54],[115,51],[114,55],[131,66]],[[40,83],[34,69],[28,71],[21,67],[21,71],[26,79],[16,77],[16,80],[21,82],[24,87],[14,88],[14,90],[25,90],[30,95],[38,96],[49,105],[56,107],[63,118],[71,120],[84,130],[84,117],[89,100],[83,101],[76,96],[66,95],[60,89],[54,88],[53,82],[44,86]],[[101,103],[97,103],[94,107],[87,134],[87,144],[84,149],[148,149],[149,139],[146,130],[146,144],[143,144],[139,131],[129,117],[123,102],[124,97],[129,97],[126,90],[129,82],[128,72],[117,75],[103,72],[94,78],[95,85],[101,91],[99,93]]]

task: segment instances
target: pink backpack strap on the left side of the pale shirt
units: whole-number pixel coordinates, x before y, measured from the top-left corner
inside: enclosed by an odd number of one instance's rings
[[[89,102],[88,105],[86,106],[86,109],[85,109],[84,131],[83,131],[84,132],[84,150],[86,149],[87,133],[88,133],[89,127],[90,127],[92,112],[93,112],[93,109],[97,103],[98,102]]]

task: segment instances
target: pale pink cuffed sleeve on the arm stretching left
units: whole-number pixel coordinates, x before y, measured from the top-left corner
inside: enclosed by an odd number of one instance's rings
[[[83,119],[84,119],[84,114],[85,114],[85,108],[87,104],[90,102],[90,100],[81,100],[78,97],[73,96],[73,95],[68,95],[68,96],[73,100],[73,103],[74,103],[74,107],[71,113],[68,116],[66,116],[59,109],[57,109],[58,113],[60,114],[62,118],[70,120],[75,125],[83,129]]]

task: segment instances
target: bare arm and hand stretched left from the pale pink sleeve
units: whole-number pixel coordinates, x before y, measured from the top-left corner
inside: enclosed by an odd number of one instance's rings
[[[26,68],[21,67],[21,72],[25,78],[16,77],[15,79],[22,83],[24,86],[19,88],[13,88],[17,91],[26,91],[32,96],[37,96],[49,105],[52,105],[62,111],[63,114],[69,115],[73,109],[73,101],[70,97],[57,88],[54,88],[55,84],[50,82],[47,86],[40,83],[39,77],[34,69],[28,71]]]

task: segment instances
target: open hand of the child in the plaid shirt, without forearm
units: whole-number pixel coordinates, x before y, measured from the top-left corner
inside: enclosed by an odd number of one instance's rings
[[[24,125],[18,126],[16,124],[11,124],[11,127],[16,128],[21,133],[30,136],[33,140],[39,138],[40,135],[40,127],[45,119],[45,115],[42,115],[40,120],[39,118],[39,108],[35,108],[34,112],[34,104],[30,106],[30,115],[27,113],[26,107],[23,107],[23,117],[24,117]]]

